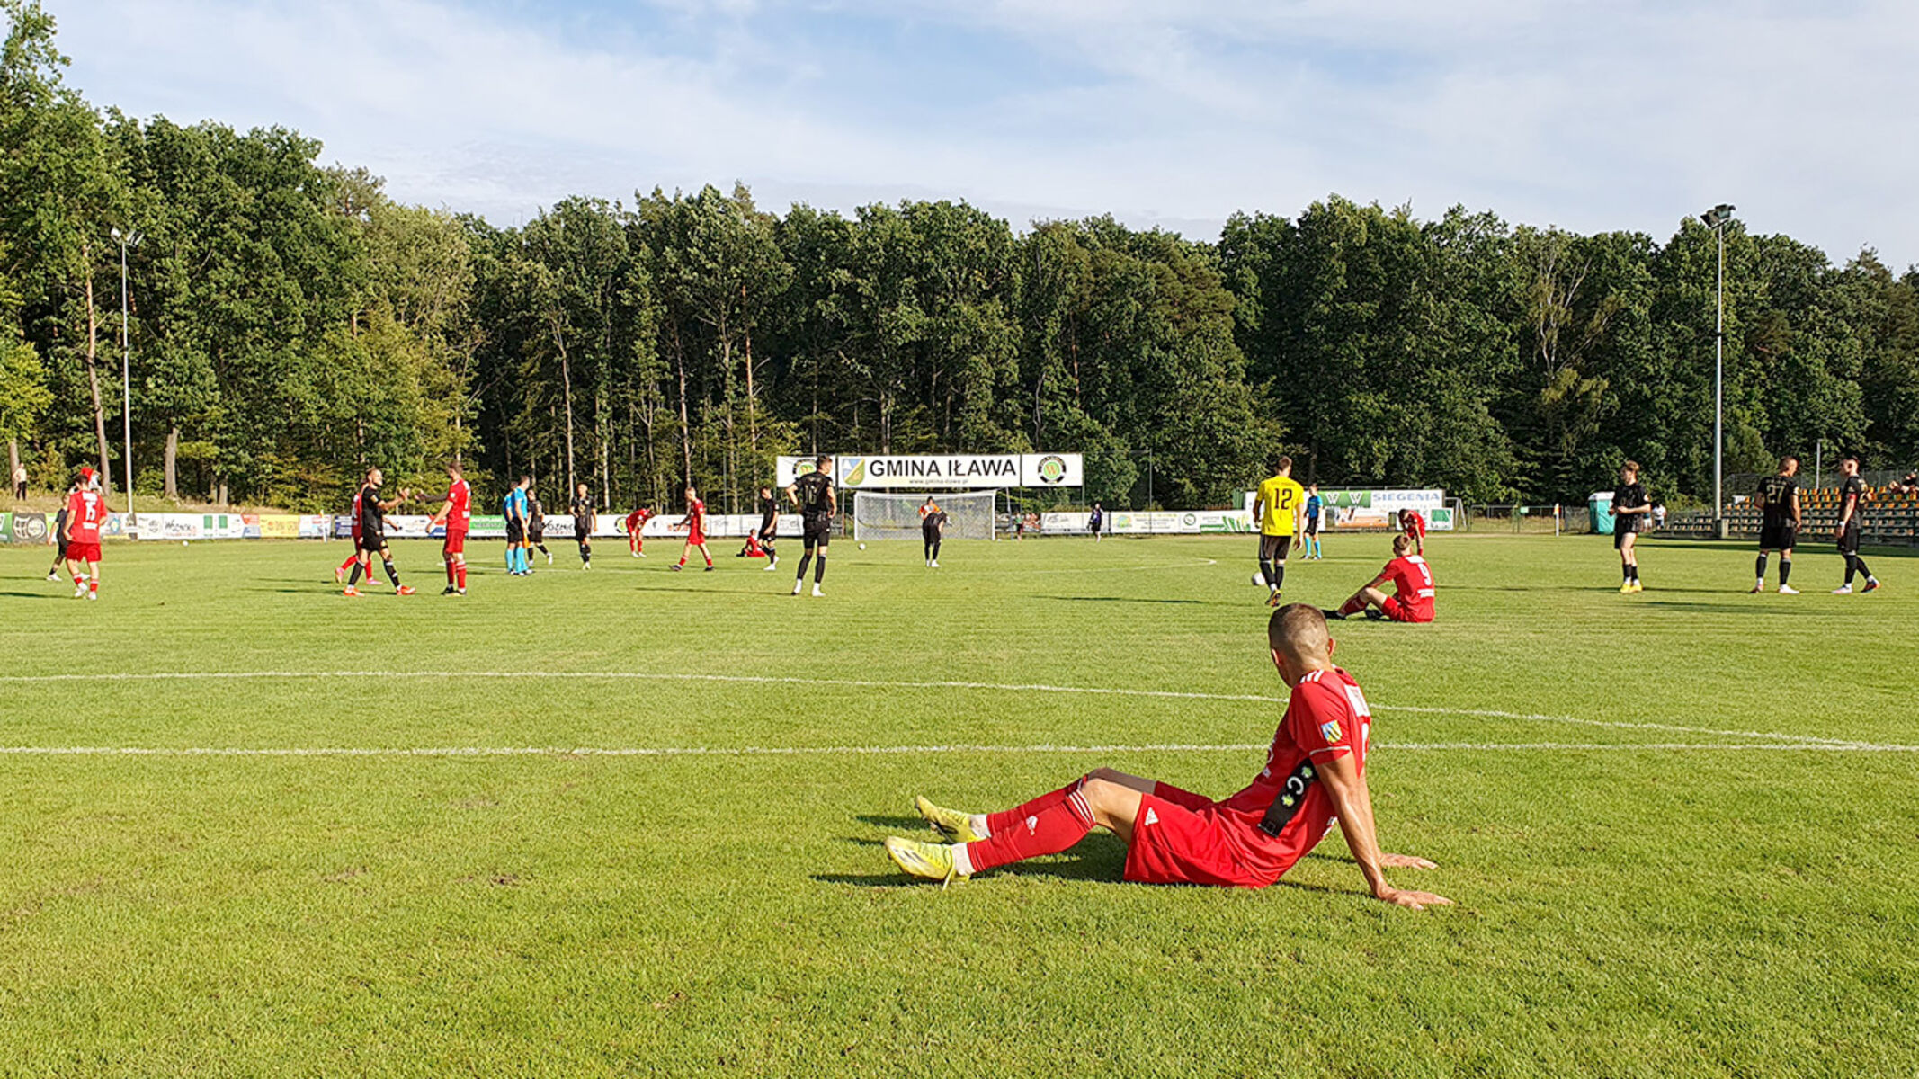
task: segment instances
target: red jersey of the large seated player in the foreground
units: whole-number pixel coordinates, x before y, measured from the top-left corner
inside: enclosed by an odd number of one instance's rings
[[[1339,668],[1315,670],[1299,680],[1286,705],[1286,718],[1272,735],[1272,749],[1267,751],[1267,768],[1249,787],[1203,810],[1238,826],[1228,827],[1226,837],[1238,847],[1242,864],[1255,874],[1278,877],[1318,845],[1332,826],[1332,795],[1305,770],[1351,753],[1355,768],[1364,776],[1370,724],[1372,708],[1351,674]],[[1259,824],[1282,795],[1295,797],[1297,803],[1286,806],[1291,816],[1280,833],[1267,835]]]

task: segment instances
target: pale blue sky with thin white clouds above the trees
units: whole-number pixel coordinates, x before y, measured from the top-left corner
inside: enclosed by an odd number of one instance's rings
[[[1211,240],[1315,200],[1919,263],[1919,4],[44,0],[96,106],[280,125],[397,200],[967,200]]]

